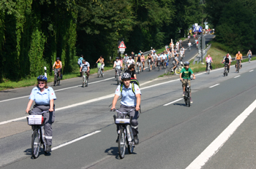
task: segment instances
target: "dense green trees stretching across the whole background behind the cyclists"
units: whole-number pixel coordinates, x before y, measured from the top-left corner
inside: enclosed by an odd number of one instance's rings
[[[255,0],[1,0],[0,81],[37,76],[56,57],[64,72],[83,54],[93,66],[99,55],[150,50],[187,34],[206,18],[217,40],[233,50],[255,46]]]

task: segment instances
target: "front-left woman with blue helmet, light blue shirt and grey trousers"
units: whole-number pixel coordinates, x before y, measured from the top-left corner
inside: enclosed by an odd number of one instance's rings
[[[56,95],[52,87],[47,85],[47,77],[40,75],[37,77],[37,87],[34,87],[29,96],[29,103],[26,108],[26,113],[29,113],[31,105],[33,102],[36,104],[33,106],[31,111],[35,113],[41,113],[42,111],[49,111],[49,113],[43,114],[45,118],[45,142],[46,142],[46,152],[51,151],[53,130],[51,125],[55,120],[55,105],[54,100],[56,100]]]

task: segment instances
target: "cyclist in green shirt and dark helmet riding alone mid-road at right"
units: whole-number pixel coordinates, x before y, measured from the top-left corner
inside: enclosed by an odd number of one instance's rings
[[[183,96],[185,95],[185,88],[187,86],[187,82],[190,86],[190,76],[193,76],[193,79],[195,79],[195,74],[193,73],[193,71],[191,70],[191,68],[189,68],[189,62],[184,62],[184,68],[181,69],[181,74],[179,75],[179,78],[181,79],[182,82],[182,87],[183,87]],[[187,81],[185,80],[187,79]],[[190,103],[192,102],[192,97],[191,97],[191,89],[190,89]]]

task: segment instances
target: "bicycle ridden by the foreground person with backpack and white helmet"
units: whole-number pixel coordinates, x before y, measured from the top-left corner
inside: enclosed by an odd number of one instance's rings
[[[113,115],[114,121],[116,125],[119,125],[119,136],[118,136],[118,154],[121,159],[124,158],[125,150],[128,148],[129,154],[132,154],[134,147],[135,147],[135,141],[133,138],[132,133],[132,117],[129,117],[129,112],[134,111],[134,109],[131,109],[128,112],[121,112],[116,109],[113,109],[112,111],[117,111],[116,114]]]

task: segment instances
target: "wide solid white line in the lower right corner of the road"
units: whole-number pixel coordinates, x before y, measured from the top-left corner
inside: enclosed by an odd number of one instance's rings
[[[189,164],[186,169],[196,169],[202,168],[206,162],[216,154],[219,149],[225,144],[225,142],[230,138],[231,135],[236,131],[236,129],[244,122],[244,120],[249,116],[249,114],[256,108],[256,100],[247,107],[229,126],[213,141],[211,144],[193,161]]]

